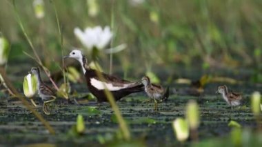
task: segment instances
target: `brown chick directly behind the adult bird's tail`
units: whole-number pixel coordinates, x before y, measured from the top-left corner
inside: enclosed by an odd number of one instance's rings
[[[154,99],[154,110],[157,110],[158,103],[165,101],[169,97],[169,88],[164,89],[162,86],[157,84],[151,84],[149,77],[145,76],[141,79],[143,85],[145,86],[145,92],[148,97]]]

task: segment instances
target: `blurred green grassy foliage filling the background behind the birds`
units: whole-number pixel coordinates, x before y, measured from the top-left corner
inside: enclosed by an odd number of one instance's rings
[[[141,71],[139,68],[148,65],[192,67],[199,63],[203,69],[252,66],[255,71],[261,71],[262,1],[259,0],[161,0],[145,1],[137,6],[130,1],[100,0],[95,17],[88,15],[90,8],[85,0],[44,1],[43,19],[34,16],[31,0],[15,3],[30,39],[51,70],[57,68],[53,61],[61,62],[54,3],[66,50],[72,46],[81,48],[74,36],[75,27],[110,26],[113,21],[113,46],[128,44],[128,49],[114,55],[114,65],[124,70]],[[19,28],[12,2],[0,1],[0,9],[0,32],[12,45],[11,62],[28,59],[23,51],[32,51]],[[101,55],[99,61],[103,68],[109,69],[109,55]],[[126,76],[127,71],[124,72]]]

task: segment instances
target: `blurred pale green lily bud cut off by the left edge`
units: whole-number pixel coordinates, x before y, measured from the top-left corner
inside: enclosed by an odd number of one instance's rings
[[[4,37],[0,37],[0,66],[8,60],[9,43]]]

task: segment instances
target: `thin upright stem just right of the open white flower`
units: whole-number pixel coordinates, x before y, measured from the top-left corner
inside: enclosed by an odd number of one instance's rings
[[[114,0],[112,0],[111,2],[112,2],[112,6],[111,6],[111,29],[114,31]],[[111,42],[110,42],[110,50],[111,50],[111,52],[110,52],[109,75],[112,75],[112,68],[113,68],[112,67],[113,66],[113,52],[112,52],[112,50],[113,50],[113,48],[112,48],[113,41],[114,41],[114,39],[112,37]]]

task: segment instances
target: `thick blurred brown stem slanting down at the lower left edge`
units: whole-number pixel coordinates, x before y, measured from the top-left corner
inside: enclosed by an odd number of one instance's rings
[[[23,97],[22,95],[19,94],[19,92],[17,92],[17,90],[14,88],[14,86],[12,86],[10,80],[6,76],[6,71],[2,67],[0,67],[0,74],[3,77],[4,81],[6,82],[6,86],[8,86],[8,88],[10,88],[10,90],[14,93],[14,95],[16,95],[16,97],[19,98],[19,100],[22,102],[22,104],[24,106],[26,106],[26,108],[28,108],[28,110],[30,110],[32,112],[32,114],[35,117],[37,117],[37,119],[39,119],[39,121],[41,121],[41,123],[43,124],[43,126],[46,127],[46,129],[49,131],[49,133],[54,135],[55,132],[54,132],[54,129],[52,128],[52,126],[50,126],[48,121],[46,121],[46,119],[44,119],[36,110],[34,110],[34,108],[32,108],[32,106],[30,106],[28,101],[26,101],[25,97]]]

